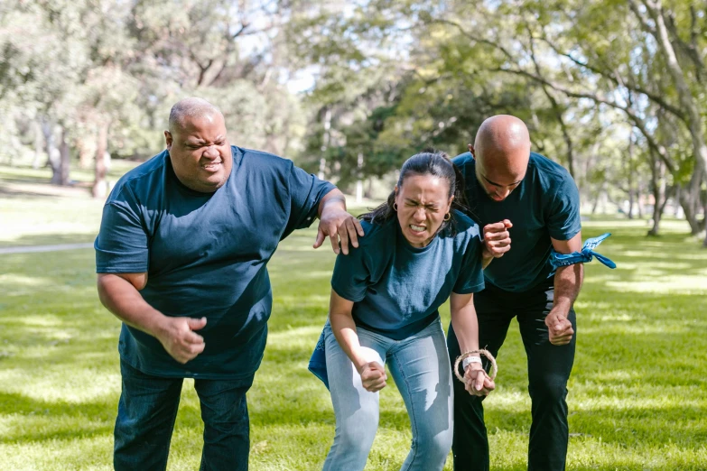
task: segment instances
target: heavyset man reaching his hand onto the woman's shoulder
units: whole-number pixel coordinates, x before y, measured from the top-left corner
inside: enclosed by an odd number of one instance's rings
[[[228,143],[216,106],[172,107],[166,150],[128,171],[96,239],[98,294],[123,321],[118,470],[164,469],[183,378],[204,421],[202,470],[246,470],[246,392],[265,349],[273,296],[266,264],[294,229],[320,218],[348,252],[363,235],[343,195],[293,162]]]

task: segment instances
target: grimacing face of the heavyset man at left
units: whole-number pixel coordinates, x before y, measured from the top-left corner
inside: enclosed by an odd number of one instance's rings
[[[226,183],[233,157],[223,115],[187,117],[181,129],[165,131],[164,138],[174,173],[186,187],[213,193]]]

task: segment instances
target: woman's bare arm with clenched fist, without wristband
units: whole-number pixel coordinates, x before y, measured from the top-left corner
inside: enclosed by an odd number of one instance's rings
[[[378,362],[368,362],[358,343],[356,324],[351,315],[353,301],[341,298],[336,291],[331,290],[329,303],[329,322],[331,331],[346,356],[361,375],[361,383],[366,391],[377,392],[386,387],[386,370]]]

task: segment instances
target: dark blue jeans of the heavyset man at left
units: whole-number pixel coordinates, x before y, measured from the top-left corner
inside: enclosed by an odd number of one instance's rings
[[[118,402],[113,466],[116,470],[163,470],[167,466],[181,378],[144,374],[120,362],[123,392]],[[248,468],[250,449],[247,380],[194,381],[204,421],[201,470]]]

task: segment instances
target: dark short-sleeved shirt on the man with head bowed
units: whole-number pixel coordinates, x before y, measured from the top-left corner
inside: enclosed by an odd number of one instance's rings
[[[550,264],[552,242],[569,240],[581,231],[580,195],[572,175],[550,159],[531,152],[526,176],[507,199],[494,201],[476,177],[470,152],[452,161],[464,175],[471,216],[483,228],[510,220],[511,249],[494,259],[486,270],[486,282],[505,291],[533,289],[554,274]]]

